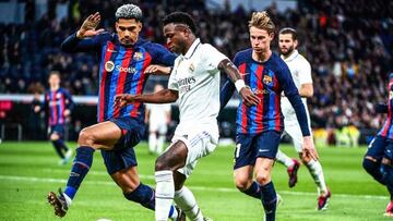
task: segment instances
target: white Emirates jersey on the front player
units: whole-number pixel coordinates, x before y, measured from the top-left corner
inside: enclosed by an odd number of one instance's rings
[[[175,60],[168,88],[178,90],[180,122],[176,131],[217,126],[219,111],[218,64],[227,59],[209,44],[195,39],[184,56]]]

